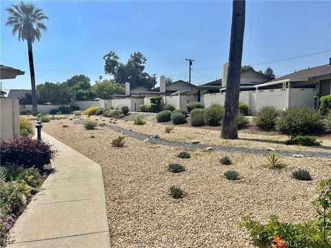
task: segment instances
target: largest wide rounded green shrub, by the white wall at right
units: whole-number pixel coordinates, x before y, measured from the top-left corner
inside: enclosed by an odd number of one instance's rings
[[[277,130],[290,136],[316,134],[323,131],[321,114],[311,107],[290,107],[279,115]]]

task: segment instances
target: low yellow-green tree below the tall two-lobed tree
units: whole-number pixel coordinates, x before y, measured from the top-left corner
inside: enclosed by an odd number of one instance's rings
[[[101,99],[110,99],[112,94],[124,94],[126,87],[122,83],[115,83],[114,81],[103,79],[100,83],[95,82],[91,87],[91,92],[94,96]]]

